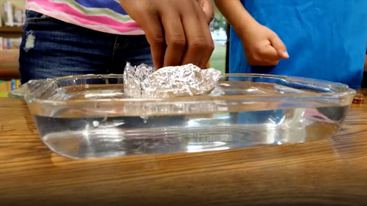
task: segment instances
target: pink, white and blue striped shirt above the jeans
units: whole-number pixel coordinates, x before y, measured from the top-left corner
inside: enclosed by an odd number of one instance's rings
[[[27,0],[26,9],[100,32],[144,34],[117,0]]]

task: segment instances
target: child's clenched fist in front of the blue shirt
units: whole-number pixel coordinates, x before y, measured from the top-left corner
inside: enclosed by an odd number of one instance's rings
[[[239,36],[249,65],[274,66],[279,60],[289,58],[287,48],[278,35],[259,23]]]

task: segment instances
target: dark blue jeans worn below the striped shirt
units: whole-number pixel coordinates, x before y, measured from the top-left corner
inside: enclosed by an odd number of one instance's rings
[[[113,35],[26,11],[20,45],[21,83],[83,74],[121,74],[126,62],[152,65],[144,35]]]

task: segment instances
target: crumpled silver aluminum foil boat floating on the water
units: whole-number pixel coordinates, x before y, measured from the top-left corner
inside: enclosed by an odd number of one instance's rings
[[[221,72],[213,68],[200,69],[193,64],[169,66],[154,71],[146,64],[131,66],[124,71],[124,92],[134,98],[167,98],[210,93]]]

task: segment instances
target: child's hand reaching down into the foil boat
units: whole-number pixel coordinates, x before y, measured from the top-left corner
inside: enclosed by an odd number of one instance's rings
[[[145,32],[155,68],[189,63],[204,68],[208,63],[214,50],[208,27],[211,2],[200,3],[120,0],[124,10]]]

